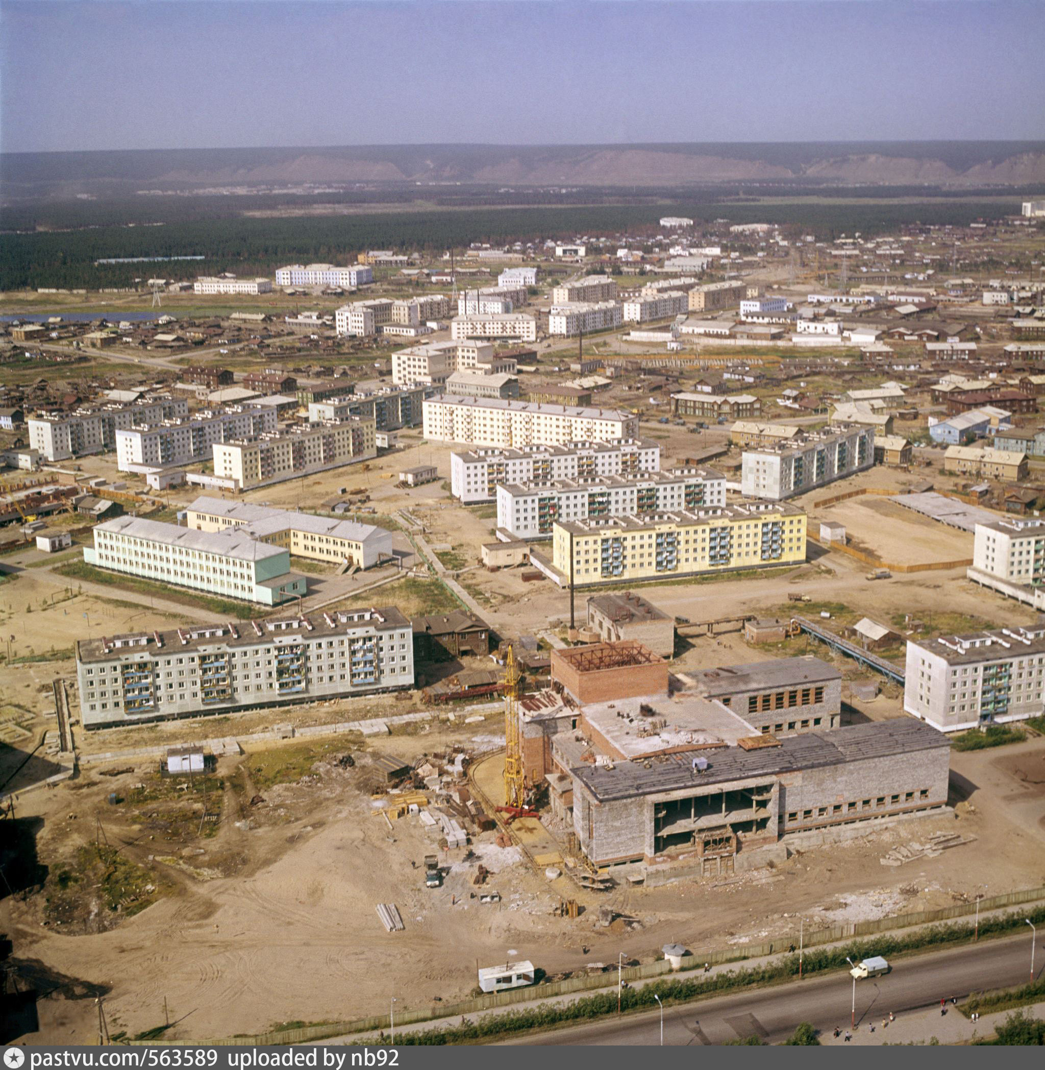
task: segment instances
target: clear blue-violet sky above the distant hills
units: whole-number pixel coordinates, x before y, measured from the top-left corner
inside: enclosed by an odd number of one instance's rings
[[[1045,136],[1041,0],[2,0],[6,152]]]

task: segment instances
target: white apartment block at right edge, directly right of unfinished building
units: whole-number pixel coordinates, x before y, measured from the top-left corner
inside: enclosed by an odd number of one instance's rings
[[[1040,717],[1045,628],[908,641],[904,709],[941,732]]]

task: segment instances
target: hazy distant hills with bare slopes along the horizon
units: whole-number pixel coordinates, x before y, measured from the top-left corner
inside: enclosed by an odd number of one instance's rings
[[[355,146],[5,153],[0,182],[187,187],[240,183],[461,182],[667,186],[719,182],[985,186],[1045,184],[1043,141],[603,146]]]

